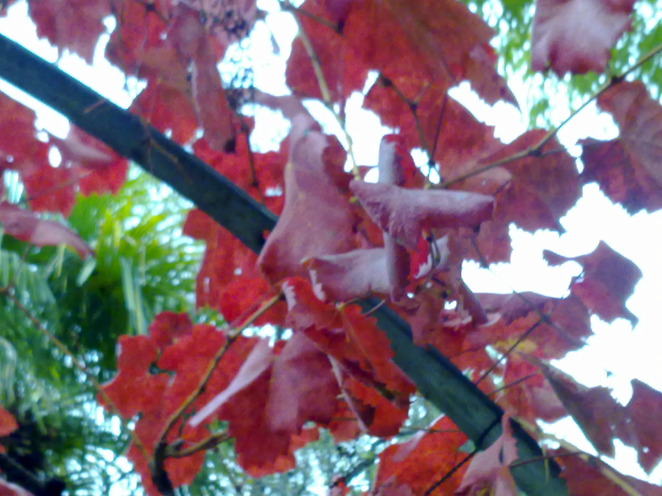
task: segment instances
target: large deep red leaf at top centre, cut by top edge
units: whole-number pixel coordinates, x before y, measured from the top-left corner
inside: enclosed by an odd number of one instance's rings
[[[422,87],[434,80],[447,86],[468,80],[487,102],[514,103],[494,69],[493,30],[461,3],[355,2],[343,31],[357,56],[389,79],[410,77]]]

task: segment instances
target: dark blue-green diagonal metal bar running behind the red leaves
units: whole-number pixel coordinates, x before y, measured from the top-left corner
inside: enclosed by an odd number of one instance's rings
[[[152,126],[4,36],[0,36],[0,77],[136,162],[189,198],[252,251],[260,252],[263,233],[273,229],[276,216]],[[367,301],[364,306],[367,310],[377,304]],[[501,433],[500,407],[436,349],[414,346],[409,325],[393,310],[381,306],[373,315],[391,339],[395,362],[418,390],[479,448],[493,443]],[[519,425],[513,423],[513,428],[520,460],[536,459],[512,470],[520,489],[530,496],[567,496],[558,467],[540,459],[538,443]]]

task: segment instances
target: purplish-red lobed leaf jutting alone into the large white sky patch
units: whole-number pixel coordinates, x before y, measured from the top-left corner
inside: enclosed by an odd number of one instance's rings
[[[600,241],[588,255],[566,258],[544,250],[543,256],[553,265],[573,260],[583,267],[583,272],[570,286],[589,311],[611,322],[618,317],[628,319],[632,325],[639,320],[625,306],[641,278],[641,270],[632,261]]]

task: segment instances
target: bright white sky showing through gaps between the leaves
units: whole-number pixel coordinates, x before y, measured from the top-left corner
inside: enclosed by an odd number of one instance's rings
[[[262,9],[273,11],[275,0],[260,1],[259,5]],[[9,15],[0,19],[0,32],[49,62],[56,62],[56,49],[46,40],[37,39],[34,24],[26,13],[27,6],[24,1],[11,7]],[[109,29],[113,28],[113,24],[113,21],[109,22]],[[294,22],[288,14],[283,13],[270,15],[266,24],[259,22],[256,26],[249,53],[254,63],[255,83],[260,89],[274,94],[287,93],[284,68],[294,32]],[[265,57],[265,52],[269,53],[273,46],[272,35],[280,47],[280,53]],[[103,58],[108,38],[108,35],[102,36],[93,65],[87,65],[77,56],[66,52],[58,65],[104,97],[127,108],[142,88],[142,84],[134,79],[125,81],[122,73]],[[516,97],[526,95],[527,87],[521,81],[511,79],[509,82]],[[38,116],[38,128],[48,130],[56,136],[66,136],[68,122],[63,116],[1,80],[0,91],[34,108]],[[452,96],[465,104],[479,119],[495,126],[496,136],[506,142],[514,140],[526,130],[526,109],[522,117],[518,110],[509,104],[498,103],[491,108],[466,85],[455,89]],[[348,102],[347,127],[354,142],[357,162],[369,165],[377,163],[379,141],[389,130],[380,126],[375,114],[361,110],[362,99],[361,95],[355,94]],[[523,102],[526,99],[518,100]],[[567,114],[567,103],[559,101],[554,108],[553,122],[560,122]],[[324,117],[324,112],[328,112],[326,109],[311,106],[310,110],[321,120],[330,122],[324,126],[327,132],[338,131],[334,128],[334,122]],[[259,149],[273,148],[285,134],[287,127],[282,118],[270,110],[257,111],[252,142]],[[577,140],[587,136],[604,140],[617,135],[618,129],[611,117],[598,114],[595,105],[591,104],[559,132],[559,140],[569,147],[573,155],[578,156],[581,149],[575,145]],[[589,339],[589,345],[557,363],[565,372],[587,386],[610,386],[614,389],[614,396],[626,403],[632,395],[632,378],[639,378],[662,390],[662,338],[657,315],[662,304],[662,256],[659,249],[659,240],[662,239],[662,211],[651,215],[639,213],[630,217],[623,208],[612,204],[596,185],[585,186],[583,193],[577,206],[561,220],[567,233],[559,236],[550,231],[538,231],[532,235],[511,228],[512,263],[493,265],[491,270],[479,269],[475,263],[467,263],[463,275],[469,286],[479,292],[531,290],[549,296],[564,296],[567,294],[571,277],[579,274],[579,265],[567,263],[561,267],[547,267],[542,259],[543,249],[551,249],[571,257],[591,252],[598,241],[604,240],[610,247],[632,259],[642,270],[643,278],[636,286],[627,306],[639,317],[639,324],[635,329],[631,329],[630,324],[623,319],[608,325],[593,317],[592,329],[595,335]],[[608,377],[607,372],[612,375]],[[580,448],[594,452],[571,420],[565,419],[550,429],[559,435],[567,436],[570,442]],[[636,464],[636,454],[632,448],[624,447],[618,440],[616,448],[616,462],[613,463],[618,470],[654,483],[662,481],[662,468],[655,470],[651,477],[646,477]]]

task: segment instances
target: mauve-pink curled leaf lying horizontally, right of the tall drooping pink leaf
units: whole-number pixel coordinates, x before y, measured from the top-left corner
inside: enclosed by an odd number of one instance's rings
[[[411,250],[424,230],[478,226],[490,218],[494,202],[485,194],[412,190],[363,181],[352,181],[350,188],[373,222]]]

